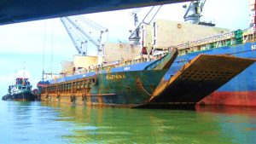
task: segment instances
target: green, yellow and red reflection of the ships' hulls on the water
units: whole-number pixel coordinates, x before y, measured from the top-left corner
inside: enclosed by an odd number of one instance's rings
[[[197,111],[71,107],[44,103],[74,124],[72,143],[252,143],[255,109],[201,107]],[[68,119],[66,119],[68,118]]]

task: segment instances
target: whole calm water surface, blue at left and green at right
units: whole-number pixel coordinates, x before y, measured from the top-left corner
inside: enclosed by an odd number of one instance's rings
[[[0,101],[0,143],[255,143],[256,109],[100,108]]]

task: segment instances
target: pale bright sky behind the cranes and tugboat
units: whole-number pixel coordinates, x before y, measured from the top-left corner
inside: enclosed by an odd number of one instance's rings
[[[183,21],[183,4],[166,4],[155,18]],[[128,42],[133,10],[84,14],[84,17],[108,28],[109,42]],[[143,11],[138,14],[139,20],[143,14]],[[249,0],[207,0],[202,19],[214,20],[217,27],[236,30],[248,27],[248,14]],[[61,61],[73,60],[73,55],[78,54],[58,18],[0,26],[0,39],[0,97],[7,93],[16,77],[23,77],[24,67],[35,89],[42,78],[43,66],[45,72],[60,72]],[[91,46],[89,54],[95,55],[96,47]]]

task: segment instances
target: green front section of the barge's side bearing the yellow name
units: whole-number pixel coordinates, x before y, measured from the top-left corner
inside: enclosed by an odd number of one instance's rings
[[[115,72],[98,75],[91,87],[91,102],[97,103],[102,95],[104,104],[143,104],[160,84],[167,70],[141,72]]]

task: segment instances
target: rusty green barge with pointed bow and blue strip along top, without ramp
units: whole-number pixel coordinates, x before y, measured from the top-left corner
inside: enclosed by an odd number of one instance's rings
[[[151,63],[103,67],[84,75],[59,78],[51,84],[40,83],[38,91],[41,101],[136,107],[148,103],[176,57],[177,50],[172,49]]]

